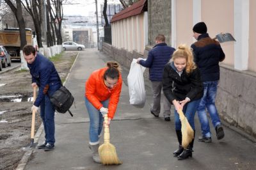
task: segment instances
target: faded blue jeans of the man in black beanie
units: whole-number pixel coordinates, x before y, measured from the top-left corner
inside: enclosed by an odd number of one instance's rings
[[[204,96],[201,98],[200,104],[197,109],[198,118],[201,123],[202,135],[204,137],[211,137],[209,121],[207,118],[207,111],[209,112],[212,120],[212,125],[216,127],[220,125],[220,118],[215,106],[215,98],[217,93],[218,81],[205,81],[204,82]]]

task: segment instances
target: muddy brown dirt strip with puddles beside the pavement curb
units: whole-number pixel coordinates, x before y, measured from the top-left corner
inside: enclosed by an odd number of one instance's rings
[[[77,52],[63,52],[60,58],[53,60],[61,80],[67,77],[76,55]],[[0,86],[0,169],[15,169],[24,155],[22,147],[30,143],[31,75],[11,70],[0,74],[0,81],[5,84]],[[37,113],[36,130],[40,124],[40,114]]]

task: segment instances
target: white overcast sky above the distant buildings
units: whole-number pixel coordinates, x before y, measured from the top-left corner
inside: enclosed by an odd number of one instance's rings
[[[88,12],[95,12],[95,0],[74,0],[73,4],[63,4],[64,15],[82,15],[88,16]],[[100,4],[104,0],[98,0],[98,12],[100,13]],[[119,0],[108,0],[108,4],[120,4]]]

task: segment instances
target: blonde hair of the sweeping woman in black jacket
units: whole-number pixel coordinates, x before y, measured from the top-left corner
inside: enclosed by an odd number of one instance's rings
[[[193,57],[193,52],[192,49],[190,47],[188,47],[188,45],[186,44],[181,44],[178,46],[177,50],[175,50],[175,52],[173,52],[172,54],[172,61],[174,61],[177,58],[184,58],[187,61],[187,65],[186,65],[186,72],[187,73],[191,73],[193,70],[196,69],[196,65]]]

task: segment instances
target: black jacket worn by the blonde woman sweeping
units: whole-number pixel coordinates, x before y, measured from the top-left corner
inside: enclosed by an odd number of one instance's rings
[[[191,73],[184,70],[181,75],[176,72],[175,66],[168,63],[164,66],[163,91],[168,101],[184,100],[188,97],[191,101],[198,100],[204,95],[204,88],[198,68]]]

